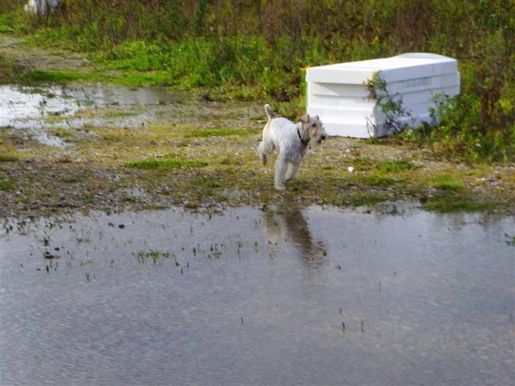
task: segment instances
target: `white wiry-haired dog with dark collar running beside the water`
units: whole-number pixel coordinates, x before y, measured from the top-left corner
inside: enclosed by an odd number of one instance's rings
[[[279,156],[275,163],[274,187],[284,190],[284,183],[295,177],[311,142],[320,144],[327,134],[318,115],[303,115],[301,122],[294,124],[286,118],[276,118],[270,105],[265,105],[265,111],[268,122],[263,129],[263,139],[259,146],[261,163],[266,165],[268,156],[277,148]]]

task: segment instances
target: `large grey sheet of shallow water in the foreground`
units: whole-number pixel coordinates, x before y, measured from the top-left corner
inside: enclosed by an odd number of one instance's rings
[[[514,218],[19,222],[1,236],[2,385],[515,382]]]

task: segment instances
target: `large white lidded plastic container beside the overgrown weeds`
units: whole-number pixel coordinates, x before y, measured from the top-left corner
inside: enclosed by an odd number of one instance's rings
[[[441,55],[411,53],[331,64],[306,71],[308,114],[318,115],[331,136],[369,138],[391,134],[387,117],[367,86],[376,76],[386,82],[390,95],[402,98],[411,117],[400,120],[410,125],[429,122],[434,95],[453,96],[460,92],[458,62]]]

